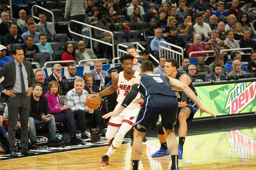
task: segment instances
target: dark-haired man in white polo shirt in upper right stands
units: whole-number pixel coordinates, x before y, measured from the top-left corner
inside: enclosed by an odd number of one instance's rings
[[[204,33],[206,39],[210,39],[209,34],[212,32],[209,24],[204,23],[203,16],[201,14],[196,15],[196,24],[194,26],[196,33]]]

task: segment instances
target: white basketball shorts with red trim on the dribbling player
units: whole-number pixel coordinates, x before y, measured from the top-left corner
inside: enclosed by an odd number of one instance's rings
[[[119,108],[121,104],[116,105],[116,109]],[[114,111],[115,111],[114,110]],[[130,125],[134,125],[136,121],[136,117],[139,114],[140,108],[125,108],[118,116],[113,117],[109,122],[108,125],[114,126],[114,127],[120,127],[122,125],[122,122],[126,122]]]

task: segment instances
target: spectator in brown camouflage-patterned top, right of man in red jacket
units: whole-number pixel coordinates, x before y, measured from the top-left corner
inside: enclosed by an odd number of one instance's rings
[[[232,49],[230,45],[219,39],[218,30],[213,30],[210,36],[211,39],[205,45],[208,50],[213,50],[216,53],[219,53],[221,50]],[[224,56],[227,56],[228,54],[230,54],[230,52],[224,51],[222,54]]]

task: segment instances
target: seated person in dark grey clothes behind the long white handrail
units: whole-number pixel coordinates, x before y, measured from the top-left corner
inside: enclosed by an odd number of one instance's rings
[[[96,23],[95,26],[98,27],[98,28],[102,28],[102,29],[110,31],[108,23],[105,20],[106,20],[106,14],[103,13],[103,12],[100,12],[99,13],[99,21]],[[94,29],[93,31],[94,31],[94,37],[96,39],[112,44],[112,39],[111,39],[111,34],[110,33],[102,32],[98,29]],[[99,51],[99,42],[94,41],[93,42],[93,47],[97,51]],[[112,48],[110,46],[106,45],[105,51],[104,51],[104,57],[105,58],[110,57],[111,49]]]

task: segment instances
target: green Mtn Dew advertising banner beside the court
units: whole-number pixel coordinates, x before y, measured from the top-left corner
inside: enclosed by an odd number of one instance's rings
[[[198,86],[195,89],[200,102],[216,116],[256,112],[256,82]],[[199,111],[196,117],[200,117]]]

